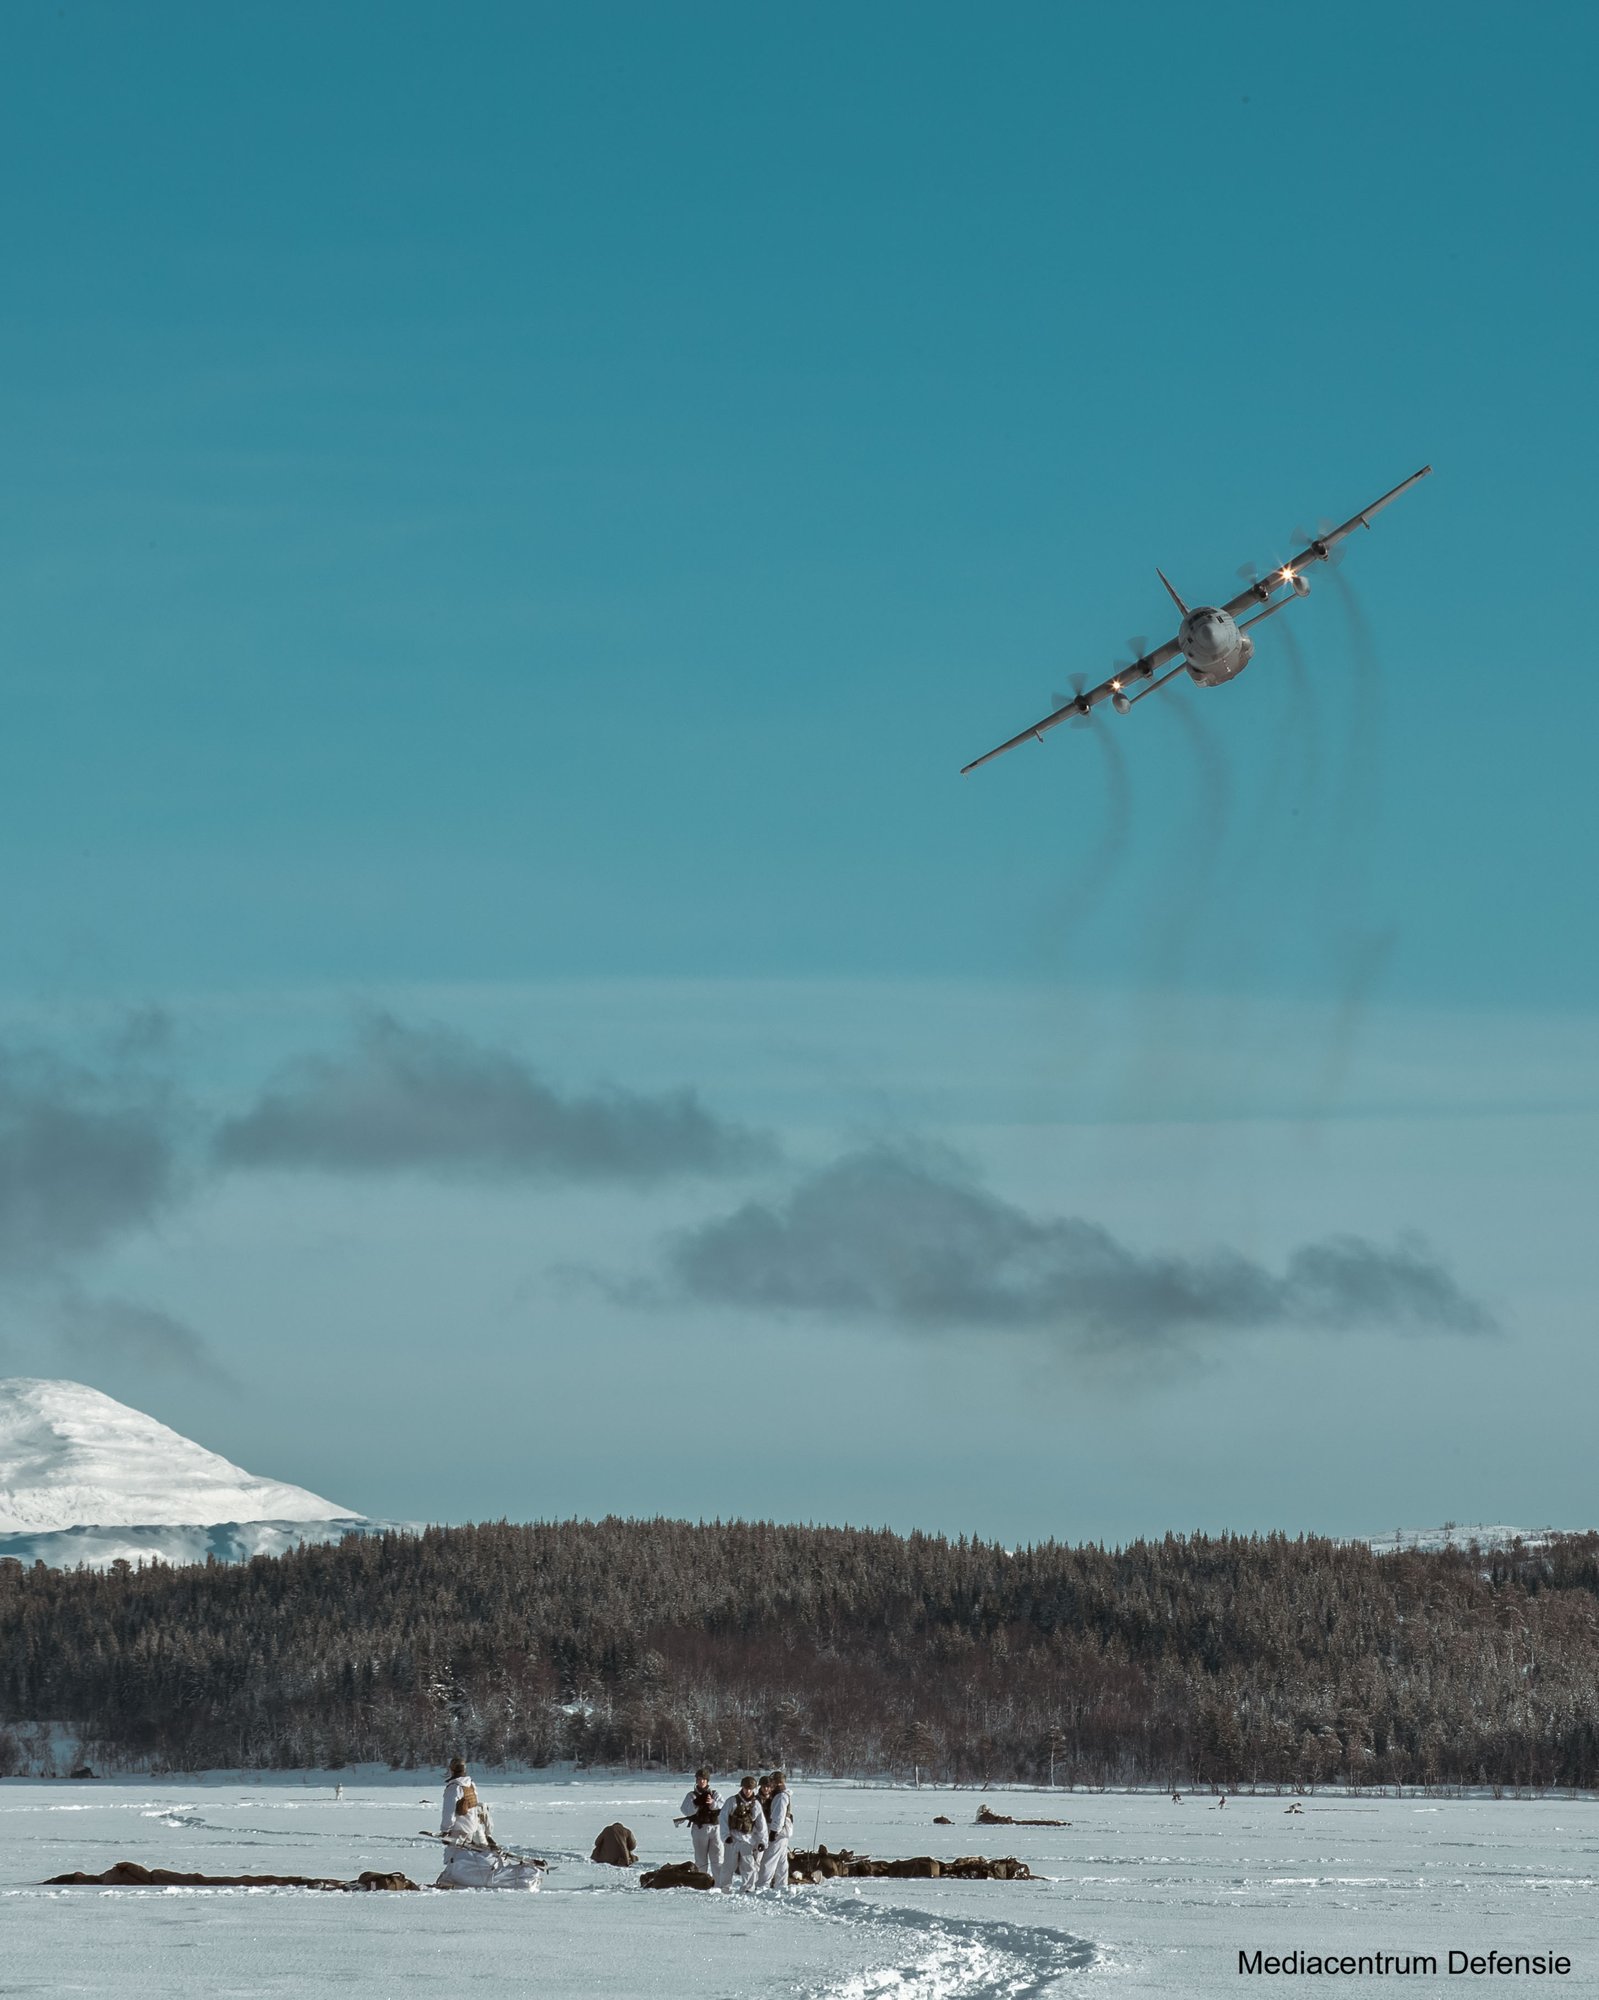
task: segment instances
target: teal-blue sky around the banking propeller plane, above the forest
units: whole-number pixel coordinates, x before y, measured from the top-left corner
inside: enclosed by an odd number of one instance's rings
[[[1593,34],[12,10],[6,1366],[406,1518],[1587,1520]],[[955,776],[1167,636],[1155,562],[1427,460],[1235,686]],[[374,1164],[396,1048],[450,1130]],[[486,1076],[760,1146],[606,1178]],[[62,1104],[154,1148],[72,1226]],[[1027,1276],[839,1274],[792,1204],[859,1158]],[[684,1290],[752,1204],[825,1296]],[[1087,1338],[1061,1218],[1419,1232],[1483,1324]]]

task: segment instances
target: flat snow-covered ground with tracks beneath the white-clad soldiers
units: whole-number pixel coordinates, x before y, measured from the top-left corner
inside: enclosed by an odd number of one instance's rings
[[[875,1856],[1017,1854],[1045,1882],[831,1882],[788,1898],[638,1888],[588,1862],[626,1820],[640,1860],[688,1858],[676,1782],[484,1778],[496,1832],[554,1864],[538,1896],[302,1890],[46,1890],[116,1860],[210,1874],[402,1868],[428,1882],[428,1776],[0,1782],[0,1992],[444,1994],[544,2000],[961,2000],[1239,1990],[1239,1950],[1433,1954],[1405,1984],[1469,1990],[1447,1952],[1547,1952],[1569,1976],[1495,1990],[1599,1994],[1599,1804],[989,1792],[1063,1828],[977,1828],[979,1794],[796,1784],[801,1844]],[[424,1804],[426,1798],[426,1804]],[[935,1814],[953,1826],[933,1826]],[[1253,1982],[1249,1982],[1253,1984]],[[1249,1990],[1245,1984],[1245,1990]],[[1265,1980],[1267,1986],[1281,1980]],[[1301,1984],[1299,1980],[1291,1984]],[[1315,1984],[1315,1982],[1311,1982]],[[1385,1984],[1385,1982],[1383,1982]]]

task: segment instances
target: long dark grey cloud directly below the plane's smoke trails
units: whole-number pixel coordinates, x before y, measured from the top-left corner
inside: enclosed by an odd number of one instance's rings
[[[1335,1236],[1281,1270],[1217,1248],[1131,1250],[1073,1216],[1031,1216],[945,1154],[845,1154],[782,1202],[678,1236],[676,1296],[905,1328],[1015,1328],[1077,1348],[1155,1350],[1261,1326],[1483,1334],[1493,1320],[1417,1242]]]

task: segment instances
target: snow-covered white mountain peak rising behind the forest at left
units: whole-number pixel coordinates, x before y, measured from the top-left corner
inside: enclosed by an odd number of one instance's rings
[[[0,1380],[0,1534],[360,1516],[258,1480],[84,1382]]]

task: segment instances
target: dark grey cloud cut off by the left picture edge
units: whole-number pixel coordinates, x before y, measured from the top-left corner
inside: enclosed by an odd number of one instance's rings
[[[0,1048],[0,1272],[44,1270],[150,1222],[176,1170],[160,1082]]]

